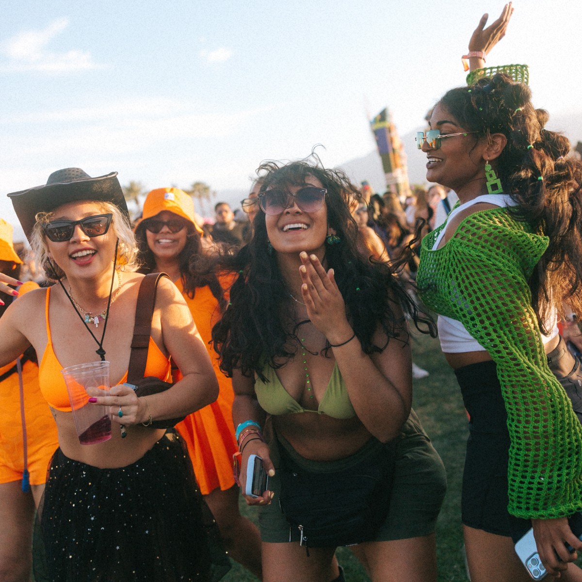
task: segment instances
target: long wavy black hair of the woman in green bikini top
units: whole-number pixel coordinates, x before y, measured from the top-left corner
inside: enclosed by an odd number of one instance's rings
[[[422,325],[421,331],[434,333],[432,320],[418,313],[394,269],[385,263],[371,262],[359,252],[358,228],[349,208],[350,201],[359,198],[360,192],[342,170],[325,169],[317,155],[312,154],[288,164],[264,162],[257,174],[263,179],[261,193],[275,184],[300,186],[308,176],[320,180],[327,189],[328,224],[341,242],[326,247],[325,261],[335,271],[348,317],[365,353],[382,352],[388,345],[388,341],[383,346],[374,345],[372,339],[378,328],[388,340],[408,342],[403,333],[404,318],[395,314],[396,305],[402,306],[419,329]],[[248,244],[219,257],[220,268],[235,272],[237,277],[230,289],[230,306],[212,329],[212,339],[221,356],[221,370],[228,376],[239,369],[243,375],[256,372],[264,379],[262,368],[266,363],[279,368],[296,354],[299,346],[296,334],[304,322],[294,321],[292,299],[279,271],[276,253],[269,253],[264,212],[258,212],[253,229]],[[326,342],[325,356],[329,348]]]

